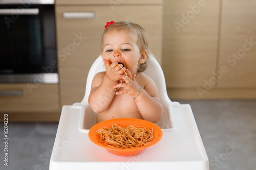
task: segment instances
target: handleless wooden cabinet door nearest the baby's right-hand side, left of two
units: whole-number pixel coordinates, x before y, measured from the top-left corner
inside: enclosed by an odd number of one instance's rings
[[[203,87],[216,71],[219,1],[164,1],[163,71],[168,89]],[[171,94],[172,95],[172,94]]]

